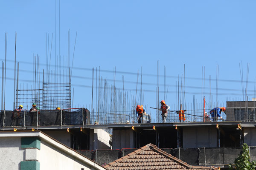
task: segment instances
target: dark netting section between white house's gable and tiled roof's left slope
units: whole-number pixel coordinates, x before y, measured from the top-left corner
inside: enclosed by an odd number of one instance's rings
[[[96,162],[102,166],[121,158],[121,151],[117,150],[96,150]]]

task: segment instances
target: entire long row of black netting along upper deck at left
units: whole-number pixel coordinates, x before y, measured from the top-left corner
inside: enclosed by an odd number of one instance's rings
[[[61,125],[61,122],[62,125],[82,125],[83,118],[84,125],[90,124],[90,111],[86,108],[77,111],[62,110],[62,115],[58,110],[0,111],[0,127],[3,127],[3,121],[4,126],[52,126]]]

